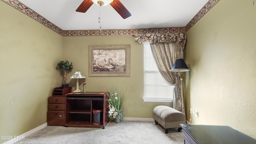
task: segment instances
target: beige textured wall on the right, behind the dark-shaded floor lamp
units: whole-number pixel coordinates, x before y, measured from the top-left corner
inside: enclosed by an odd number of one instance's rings
[[[193,124],[228,125],[256,138],[256,5],[221,0],[187,32],[187,111]]]

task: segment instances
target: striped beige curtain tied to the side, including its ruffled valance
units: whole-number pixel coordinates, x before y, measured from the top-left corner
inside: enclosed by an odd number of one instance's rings
[[[162,77],[167,84],[174,85],[173,108],[186,115],[180,78],[178,73],[170,72],[175,60],[183,58],[186,34],[136,35],[134,40],[139,44],[151,44],[151,50]]]

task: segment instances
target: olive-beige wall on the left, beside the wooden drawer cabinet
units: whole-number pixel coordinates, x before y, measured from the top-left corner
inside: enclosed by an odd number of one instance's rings
[[[0,135],[18,136],[47,122],[63,38],[2,1],[0,10]]]

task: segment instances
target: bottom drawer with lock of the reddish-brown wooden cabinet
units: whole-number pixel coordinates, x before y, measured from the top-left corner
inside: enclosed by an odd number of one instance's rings
[[[54,126],[65,125],[65,111],[64,110],[48,110],[47,124]]]

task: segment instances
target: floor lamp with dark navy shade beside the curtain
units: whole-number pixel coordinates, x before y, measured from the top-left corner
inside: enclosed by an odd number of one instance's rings
[[[184,100],[183,100],[183,89],[182,89],[182,80],[183,80],[183,76],[180,74],[180,72],[188,72],[190,69],[188,68],[188,66],[186,65],[185,61],[181,58],[181,59],[177,59],[173,66],[172,69],[170,70],[171,72],[178,72],[178,75],[180,77],[180,82],[181,82],[181,100],[182,100],[182,104],[184,104]],[[182,113],[184,114],[183,108],[182,108]]]

